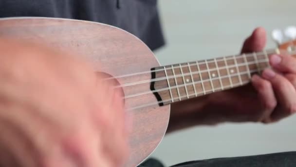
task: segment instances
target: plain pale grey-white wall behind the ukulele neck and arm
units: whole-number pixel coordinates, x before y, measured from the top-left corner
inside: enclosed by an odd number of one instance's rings
[[[166,47],[155,54],[165,65],[240,52],[257,26],[270,33],[296,25],[295,0],[159,0]],[[167,135],[152,157],[166,166],[184,161],[296,150],[296,116],[274,125],[198,126]]]

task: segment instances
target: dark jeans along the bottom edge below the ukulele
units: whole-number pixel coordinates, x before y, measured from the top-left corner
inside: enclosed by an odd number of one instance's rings
[[[139,167],[165,166],[156,159],[148,159]],[[296,167],[296,152],[198,160],[171,167]]]

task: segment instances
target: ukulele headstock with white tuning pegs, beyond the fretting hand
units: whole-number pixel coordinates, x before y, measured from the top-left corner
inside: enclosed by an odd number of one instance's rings
[[[296,27],[289,26],[284,30],[276,29],[272,32],[272,38],[277,42],[280,52],[296,56]]]

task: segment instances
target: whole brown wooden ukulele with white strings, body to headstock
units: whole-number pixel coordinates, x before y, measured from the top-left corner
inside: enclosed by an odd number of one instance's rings
[[[134,118],[126,167],[143,162],[163,139],[170,104],[250,83],[253,73],[268,68],[271,54],[296,55],[296,40],[261,52],[161,66],[144,42],[102,23],[55,18],[0,19],[0,36],[42,42],[71,50],[106,74],[122,90],[126,112]]]

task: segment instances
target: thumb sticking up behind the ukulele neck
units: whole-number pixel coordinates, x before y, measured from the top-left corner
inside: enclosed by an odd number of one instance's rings
[[[256,28],[252,35],[248,37],[242,46],[241,53],[259,52],[266,45],[266,32],[262,27]]]

